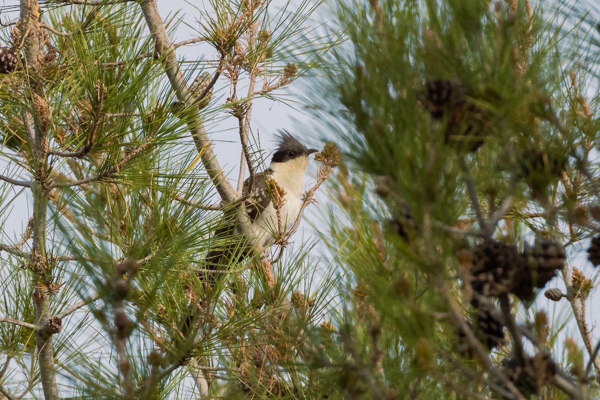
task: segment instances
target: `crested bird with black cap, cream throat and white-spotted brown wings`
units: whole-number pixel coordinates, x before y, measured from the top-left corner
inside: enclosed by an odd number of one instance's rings
[[[286,130],[278,130],[276,139],[278,146],[269,167],[244,181],[245,209],[250,220],[247,234],[253,239],[254,245],[261,248],[273,245],[280,233],[288,233],[295,225],[304,192],[304,174],[310,161],[308,156],[318,152],[317,149],[307,148]],[[274,188],[277,187],[278,191],[283,190],[283,196],[281,201],[274,202],[277,196]],[[277,216],[277,206],[280,206],[280,218]],[[217,271],[250,253],[247,243],[242,241],[240,244],[239,236],[235,238],[241,234],[241,227],[235,215],[232,215],[234,212],[236,207],[229,212],[230,215],[226,213],[223,224],[212,236],[211,241],[215,245],[205,258],[208,270]]]

